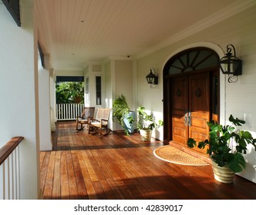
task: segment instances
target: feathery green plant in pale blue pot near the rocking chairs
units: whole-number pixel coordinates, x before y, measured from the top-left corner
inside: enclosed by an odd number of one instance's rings
[[[133,134],[135,111],[130,111],[126,97],[123,94],[119,95],[113,102],[113,116],[116,117],[117,121],[123,127],[126,135]]]

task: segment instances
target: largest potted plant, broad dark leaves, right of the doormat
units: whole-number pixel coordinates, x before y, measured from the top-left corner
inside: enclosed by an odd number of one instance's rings
[[[197,146],[200,149],[208,147],[207,154],[212,160],[214,178],[224,183],[232,183],[234,174],[244,170],[246,162],[242,154],[247,153],[248,144],[252,144],[255,148],[256,142],[249,131],[236,128],[242,126],[245,121],[234,118],[232,114],[229,121],[231,125],[217,124],[216,121],[207,122],[210,127],[208,139],[198,143],[192,138],[187,141],[188,147]]]

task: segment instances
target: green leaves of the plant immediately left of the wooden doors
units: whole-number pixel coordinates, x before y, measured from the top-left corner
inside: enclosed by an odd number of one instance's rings
[[[153,117],[153,113],[150,114],[147,113],[145,107],[139,106],[137,108],[137,128],[139,129],[151,129],[153,130],[154,127],[163,125],[163,121],[158,121],[158,124],[155,121],[155,118]]]

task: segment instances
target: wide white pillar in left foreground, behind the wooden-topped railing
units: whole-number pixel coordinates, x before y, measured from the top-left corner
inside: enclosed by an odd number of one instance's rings
[[[25,137],[20,144],[21,198],[36,199],[39,194],[39,133],[35,108],[37,50],[35,52],[34,35],[32,29],[19,28],[2,4],[0,29],[0,147],[12,137]]]

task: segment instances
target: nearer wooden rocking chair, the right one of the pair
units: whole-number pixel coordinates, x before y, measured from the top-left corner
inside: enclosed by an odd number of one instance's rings
[[[95,119],[89,119],[89,134],[102,134],[103,129],[106,130],[106,134],[109,134],[108,121],[109,121],[109,108],[99,108]]]

